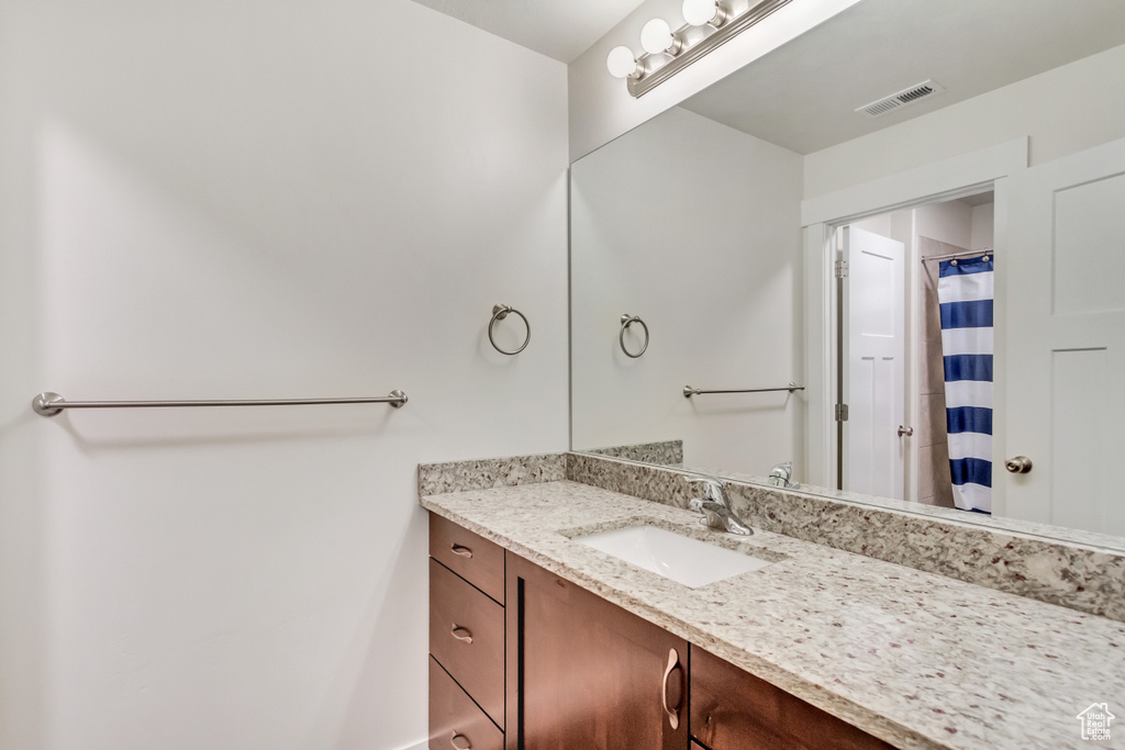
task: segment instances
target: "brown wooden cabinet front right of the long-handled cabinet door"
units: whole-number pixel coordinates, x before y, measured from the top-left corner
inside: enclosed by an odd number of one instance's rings
[[[691,650],[688,725],[711,750],[892,747],[703,649]]]

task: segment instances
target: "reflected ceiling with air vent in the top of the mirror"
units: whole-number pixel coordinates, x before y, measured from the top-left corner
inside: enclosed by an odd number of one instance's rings
[[[1122,44],[1122,0],[863,0],[681,106],[808,154]],[[927,79],[946,91],[854,111]]]

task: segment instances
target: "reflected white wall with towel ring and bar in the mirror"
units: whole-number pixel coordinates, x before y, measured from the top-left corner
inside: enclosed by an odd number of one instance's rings
[[[801,157],[676,108],[572,175],[575,448],[682,439],[688,464],[803,475],[800,395],[681,392],[801,379]]]

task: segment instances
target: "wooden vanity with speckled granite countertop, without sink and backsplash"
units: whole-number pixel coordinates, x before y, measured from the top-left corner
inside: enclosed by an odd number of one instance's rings
[[[1125,698],[1120,622],[522,479],[421,490],[431,748],[1081,747]],[[638,525],[768,564],[691,588],[580,541]]]

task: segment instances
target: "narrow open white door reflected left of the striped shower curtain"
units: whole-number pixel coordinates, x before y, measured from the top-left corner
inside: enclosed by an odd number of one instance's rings
[[[844,489],[900,499],[904,254],[901,242],[844,228]]]

